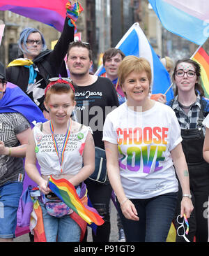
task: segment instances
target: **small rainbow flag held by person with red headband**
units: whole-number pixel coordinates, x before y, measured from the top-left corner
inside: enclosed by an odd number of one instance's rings
[[[91,223],[95,223],[95,225],[100,226],[104,223],[104,220],[102,220],[98,213],[95,213],[84,206],[77,195],[75,187],[68,180],[65,180],[64,178],[55,180],[50,176],[49,188],[57,197],[59,197],[59,199],[61,199],[61,201],[63,201],[68,207],[72,208],[72,210],[89,225],[91,225]]]

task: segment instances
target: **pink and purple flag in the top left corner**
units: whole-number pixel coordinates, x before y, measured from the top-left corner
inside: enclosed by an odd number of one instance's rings
[[[62,31],[67,0],[0,0],[0,10],[29,17]]]

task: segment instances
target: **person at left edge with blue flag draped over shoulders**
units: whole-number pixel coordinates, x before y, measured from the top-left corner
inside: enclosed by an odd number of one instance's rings
[[[24,165],[32,122],[45,122],[40,108],[6,81],[0,62],[0,241],[13,241],[23,190]]]

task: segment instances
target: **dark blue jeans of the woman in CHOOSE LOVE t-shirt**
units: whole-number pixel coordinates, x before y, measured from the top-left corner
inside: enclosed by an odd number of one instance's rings
[[[131,199],[139,221],[127,220],[118,204],[127,242],[165,242],[176,209],[178,193],[162,194],[150,199]]]

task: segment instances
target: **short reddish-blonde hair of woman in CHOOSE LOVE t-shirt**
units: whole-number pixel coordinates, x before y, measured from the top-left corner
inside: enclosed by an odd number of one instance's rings
[[[130,73],[141,73],[143,71],[146,72],[149,84],[151,84],[152,70],[148,60],[142,57],[138,58],[132,55],[125,57],[118,68],[118,80],[121,87],[123,87],[123,83],[125,82],[125,79]]]

